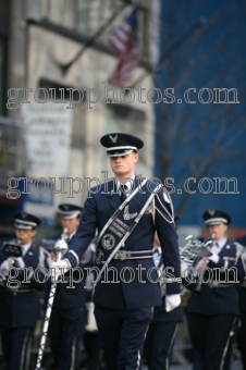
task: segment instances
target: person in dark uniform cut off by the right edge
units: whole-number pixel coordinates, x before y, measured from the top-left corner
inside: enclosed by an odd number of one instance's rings
[[[244,269],[244,279],[243,283],[237,287],[241,312],[237,342],[244,366],[243,370],[246,370],[246,235],[238,237],[235,242],[243,246],[242,262]]]

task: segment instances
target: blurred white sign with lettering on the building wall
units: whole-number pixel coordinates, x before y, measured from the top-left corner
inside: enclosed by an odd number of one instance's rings
[[[29,176],[67,175],[72,133],[72,110],[66,104],[46,102],[22,104]]]

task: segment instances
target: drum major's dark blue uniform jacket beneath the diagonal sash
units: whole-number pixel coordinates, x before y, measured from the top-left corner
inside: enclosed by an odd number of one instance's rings
[[[72,266],[78,263],[81,256],[83,256],[93,239],[96,229],[98,229],[98,234],[100,234],[100,231],[110,217],[120,207],[120,196],[118,193],[113,193],[115,192],[113,190],[113,185],[114,182],[111,181],[102,184],[100,192],[93,188],[90,197],[86,199],[79,229],[70,243],[70,251],[64,256],[70,260]],[[135,186],[137,185],[138,180],[135,178]],[[146,184],[143,189],[131,199],[128,203],[128,212],[131,214],[139,213],[150,196],[151,189],[155,189],[158,184],[151,182],[148,185],[149,188],[147,188]],[[103,194],[103,192],[106,194]],[[173,269],[173,278],[180,278],[177,235],[174,224],[163,219],[163,217],[169,217],[162,205],[164,205],[169,211],[170,205],[164,200],[163,190],[161,190],[158,196],[160,200],[155,196],[155,202],[161,214],[156,211],[156,222],[153,223],[151,209],[148,209],[121,250],[149,250],[149,246],[152,246],[153,243],[155,230],[157,229],[161,245],[164,246],[162,247],[164,264]],[[120,219],[119,222],[123,222],[123,227],[130,226],[132,220],[125,220],[122,215],[123,212],[118,217],[118,219]],[[106,231],[106,233],[110,234],[110,236],[113,234],[109,230]],[[115,246],[116,244],[112,248],[106,248],[102,243],[99,243],[97,256],[107,260]],[[102,263],[99,262],[97,267],[101,269]],[[131,271],[134,271],[134,273]],[[98,305],[116,309],[159,306],[161,304],[160,288],[158,284],[153,282],[157,282],[157,273],[152,258],[125,261],[113,259],[95,288],[94,301]],[[167,292],[168,294],[180,293],[180,284],[169,283]]]

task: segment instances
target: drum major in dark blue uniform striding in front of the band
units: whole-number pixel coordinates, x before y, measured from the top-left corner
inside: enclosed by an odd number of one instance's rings
[[[173,276],[167,284],[165,298],[167,309],[171,310],[181,303],[177,235],[172,203],[163,187],[135,175],[142,139],[114,133],[104,135],[100,143],[115,180],[89,190],[70,251],[53,267],[59,270],[77,266],[98,229],[94,303],[107,370],[136,370],[152,307],[161,305],[149,246],[157,230],[164,266],[170,267]]]

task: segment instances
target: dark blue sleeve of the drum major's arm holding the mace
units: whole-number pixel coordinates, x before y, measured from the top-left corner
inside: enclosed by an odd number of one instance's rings
[[[69,243],[70,250],[64,256],[71,263],[71,267],[77,267],[95,237],[97,226],[96,200],[94,197],[87,198],[83,208],[83,215],[78,230],[72,240]]]

